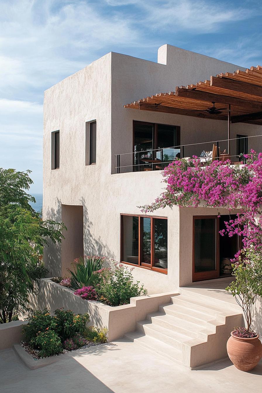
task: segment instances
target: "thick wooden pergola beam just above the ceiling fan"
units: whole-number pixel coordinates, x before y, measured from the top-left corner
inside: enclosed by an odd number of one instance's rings
[[[257,111],[262,110],[262,103],[258,103],[257,101],[244,100],[237,97],[230,97],[229,95],[213,94],[203,90],[191,90],[183,86],[176,87],[176,96],[195,99],[198,101],[210,101],[225,105],[236,105]]]

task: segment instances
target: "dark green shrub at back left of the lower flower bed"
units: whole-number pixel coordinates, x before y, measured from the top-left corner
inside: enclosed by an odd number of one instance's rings
[[[38,332],[44,332],[46,328],[55,330],[55,327],[55,319],[51,317],[48,308],[43,311],[37,310],[27,325],[23,325],[24,338],[29,342],[37,336]]]

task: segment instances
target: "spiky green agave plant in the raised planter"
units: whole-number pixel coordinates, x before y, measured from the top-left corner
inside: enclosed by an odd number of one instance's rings
[[[93,285],[97,276],[93,274],[100,270],[103,266],[104,258],[99,257],[86,257],[80,258],[75,264],[75,271],[69,270],[71,273],[71,286],[74,289],[80,289],[83,286]]]

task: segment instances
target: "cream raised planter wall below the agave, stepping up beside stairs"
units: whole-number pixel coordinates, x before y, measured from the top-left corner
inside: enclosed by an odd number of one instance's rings
[[[38,296],[32,298],[31,307],[42,310],[49,307],[51,312],[60,307],[75,313],[90,314],[89,325],[108,329],[108,340],[122,337],[126,332],[136,330],[136,322],[147,314],[158,310],[158,306],[170,302],[174,292],[131,298],[130,304],[111,307],[97,301],[87,301],[75,296],[74,291],[54,283],[50,279],[38,280]]]

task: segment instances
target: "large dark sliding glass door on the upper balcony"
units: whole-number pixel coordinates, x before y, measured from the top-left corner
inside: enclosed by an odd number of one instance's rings
[[[134,171],[163,169],[180,157],[180,127],[134,121],[133,152]]]

